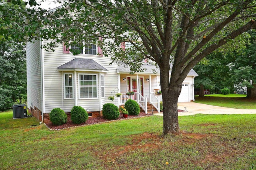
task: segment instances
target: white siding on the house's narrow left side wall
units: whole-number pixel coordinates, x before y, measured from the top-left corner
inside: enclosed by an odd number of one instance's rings
[[[28,42],[26,46],[27,61],[27,95],[28,107],[38,107],[42,111],[42,72],[40,41]]]

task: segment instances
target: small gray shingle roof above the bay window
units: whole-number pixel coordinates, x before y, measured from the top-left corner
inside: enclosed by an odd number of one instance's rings
[[[68,63],[58,66],[58,69],[65,69],[65,70],[83,69],[83,70],[108,71],[105,67],[98,64],[96,61],[94,61],[92,59],[78,59],[78,58],[75,58],[75,59],[69,61]]]

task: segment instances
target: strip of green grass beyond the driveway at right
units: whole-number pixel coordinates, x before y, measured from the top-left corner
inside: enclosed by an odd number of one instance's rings
[[[195,96],[195,102],[236,109],[256,109],[256,99],[246,98],[244,94],[209,94],[204,96],[204,98]]]

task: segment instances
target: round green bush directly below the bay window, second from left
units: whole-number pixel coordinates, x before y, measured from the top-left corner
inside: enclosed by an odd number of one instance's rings
[[[74,106],[70,112],[71,121],[75,124],[81,124],[88,120],[87,111],[81,106]]]

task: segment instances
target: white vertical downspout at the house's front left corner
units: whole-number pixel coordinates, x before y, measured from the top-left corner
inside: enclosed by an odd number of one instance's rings
[[[41,83],[42,83],[42,90],[41,90],[41,94],[42,94],[42,105],[41,105],[41,118],[42,121],[40,122],[40,124],[42,124],[44,122],[44,105],[45,105],[45,100],[44,100],[44,49],[41,48],[42,45],[44,44],[43,39],[40,39],[40,57],[41,57]]]

